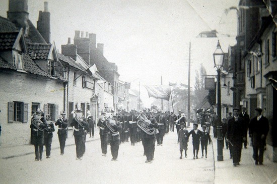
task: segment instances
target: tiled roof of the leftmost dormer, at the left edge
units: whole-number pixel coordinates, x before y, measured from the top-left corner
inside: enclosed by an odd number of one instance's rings
[[[18,32],[0,33],[0,50],[13,49]]]

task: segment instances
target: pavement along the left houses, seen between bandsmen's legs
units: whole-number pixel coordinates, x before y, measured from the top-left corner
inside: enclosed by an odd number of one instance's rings
[[[86,142],[94,141],[100,139],[99,130],[94,131],[94,138],[89,138],[90,135],[87,134]],[[68,130],[67,139],[65,142],[65,149],[66,146],[75,145],[75,140],[73,136],[73,129]],[[51,149],[59,149],[59,141],[57,132],[53,132],[53,140],[51,144]],[[43,148],[45,152],[45,146]],[[20,145],[20,146],[0,146],[0,158],[13,158],[18,156],[23,156],[27,154],[35,154],[34,153],[34,145],[27,144],[27,145]],[[44,154],[45,155],[45,154]]]

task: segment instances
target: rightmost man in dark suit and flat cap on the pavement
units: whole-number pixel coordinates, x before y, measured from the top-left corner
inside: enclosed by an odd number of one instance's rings
[[[256,108],[255,117],[249,124],[249,136],[253,138],[253,158],[256,165],[262,165],[265,139],[269,130],[268,120],[261,113],[262,109]]]

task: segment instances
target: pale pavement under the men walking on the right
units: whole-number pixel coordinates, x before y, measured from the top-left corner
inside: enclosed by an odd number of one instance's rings
[[[270,161],[264,152],[264,165],[255,165],[252,158],[253,149],[248,145],[247,149],[243,148],[241,153],[241,162],[238,166],[233,166],[233,160],[230,159],[229,149],[226,145],[223,149],[224,161],[217,161],[217,139],[213,137],[211,130],[211,138],[213,141],[215,156],[215,184],[237,184],[237,183],[277,183],[277,163]]]

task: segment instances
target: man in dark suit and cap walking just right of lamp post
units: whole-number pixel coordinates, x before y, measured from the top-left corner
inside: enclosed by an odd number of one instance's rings
[[[241,157],[242,142],[245,141],[244,119],[239,117],[239,109],[233,108],[233,117],[227,122],[227,140],[232,150],[233,164],[239,165]]]

